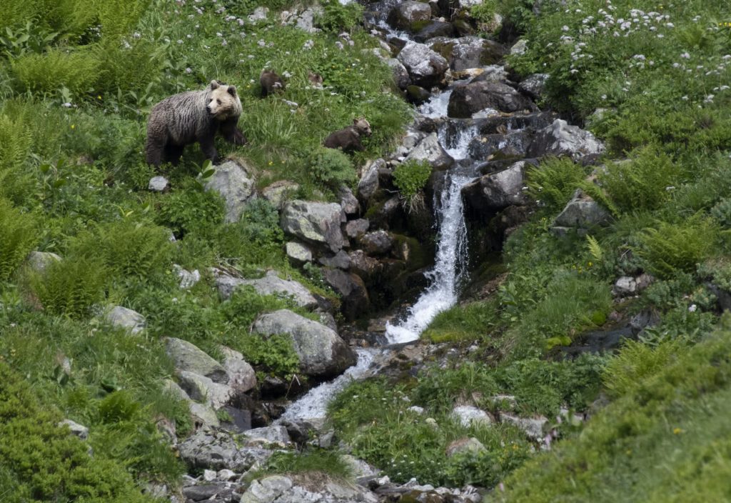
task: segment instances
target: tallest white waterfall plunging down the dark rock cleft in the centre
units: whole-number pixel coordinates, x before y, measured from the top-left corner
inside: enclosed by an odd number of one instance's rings
[[[467,228],[464,223],[462,187],[474,178],[447,175],[442,191],[441,226],[434,268],[427,273],[431,284],[417,303],[409,308],[409,317],[400,325],[386,324],[391,344],[419,339],[432,319],[454,306],[458,300],[460,273],[466,260]]]

